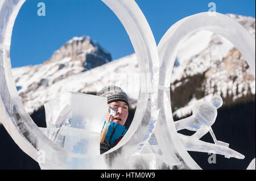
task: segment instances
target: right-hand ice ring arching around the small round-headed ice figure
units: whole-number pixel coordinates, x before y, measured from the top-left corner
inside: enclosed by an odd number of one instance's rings
[[[158,120],[158,124],[165,124],[166,127],[161,128],[168,129],[169,134],[165,136],[159,135],[159,137],[165,139],[163,142],[159,142],[159,145],[160,148],[163,149],[164,155],[166,155],[168,153],[165,153],[164,150],[170,150],[168,148],[170,148],[170,144],[172,144],[184,163],[191,169],[199,169],[199,166],[185,150],[175,131],[170,104],[170,84],[172,69],[180,46],[187,37],[199,30],[218,33],[233,43],[234,46],[240,50],[243,57],[245,57],[245,60],[253,70],[255,78],[255,39],[240,23],[229,16],[217,12],[202,12],[181,19],[164,34],[158,45],[160,60],[158,99],[160,103],[159,108],[162,110],[162,112],[160,112],[162,119]],[[164,133],[164,131],[162,130],[159,134],[160,133]]]

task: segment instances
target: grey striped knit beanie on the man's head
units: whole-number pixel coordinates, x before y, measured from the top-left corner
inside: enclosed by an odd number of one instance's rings
[[[103,87],[98,93],[98,96],[104,96],[108,99],[108,104],[114,101],[125,102],[129,106],[129,99],[127,94],[118,86]]]

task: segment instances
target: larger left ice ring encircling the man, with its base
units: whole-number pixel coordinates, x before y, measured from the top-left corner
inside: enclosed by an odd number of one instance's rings
[[[25,0],[5,0],[0,2],[1,122],[16,144],[35,161],[38,160],[38,152],[44,150],[46,159],[45,163],[41,163],[40,166],[45,169],[112,169],[113,167],[109,165],[107,158],[112,157],[114,151],[124,150],[123,147],[125,145],[129,145],[129,149],[135,151],[145,148],[157,119],[157,107],[153,103],[157,101],[158,97],[159,58],[154,36],[138,5],[134,1],[126,0],[103,1],[121,20],[139,60],[138,66],[141,75],[147,77],[147,74],[151,73],[150,82],[141,82],[141,90],[143,91],[139,94],[133,125],[131,125],[126,136],[112,150],[102,155],[90,156],[73,153],[49,140],[24,110],[15,90],[10,64],[11,32],[16,15],[24,2]],[[149,92],[148,87],[152,92]],[[142,120],[143,125],[141,124]],[[143,139],[144,142],[142,142]],[[134,152],[130,151],[126,155],[127,159],[133,157],[132,154]],[[138,158],[138,155],[135,157]],[[136,165],[134,162],[137,162],[138,159],[130,159],[129,166],[126,165],[127,159],[122,159],[115,166],[118,169],[125,167],[133,169],[134,165]]]

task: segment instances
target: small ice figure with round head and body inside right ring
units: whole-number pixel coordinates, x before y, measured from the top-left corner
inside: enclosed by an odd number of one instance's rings
[[[217,117],[217,108],[221,107],[222,103],[222,98],[218,95],[214,95],[210,102],[201,101],[195,103],[192,107],[192,116],[174,122],[176,131],[181,129],[196,131],[192,136],[179,134],[188,151],[222,154],[226,158],[243,159],[245,156],[230,149],[228,143],[218,141],[211,128]],[[208,132],[210,132],[214,144],[199,140]]]

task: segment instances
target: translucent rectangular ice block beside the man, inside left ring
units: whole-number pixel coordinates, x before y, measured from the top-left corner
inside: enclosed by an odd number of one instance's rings
[[[40,130],[49,140],[73,153],[100,154],[98,142],[107,110],[106,98],[65,92],[44,107],[47,128]]]

